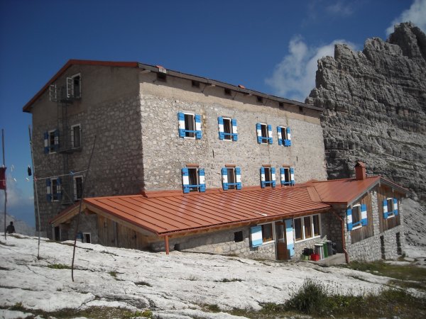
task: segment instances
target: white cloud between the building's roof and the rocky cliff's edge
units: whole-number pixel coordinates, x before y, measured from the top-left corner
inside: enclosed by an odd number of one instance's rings
[[[355,47],[346,40],[334,40],[321,47],[309,47],[300,35],[296,35],[288,45],[289,54],[275,66],[272,77],[266,79],[266,84],[272,86],[274,94],[286,99],[305,101],[315,88],[317,60],[327,55],[334,57],[334,45],[337,43]]]

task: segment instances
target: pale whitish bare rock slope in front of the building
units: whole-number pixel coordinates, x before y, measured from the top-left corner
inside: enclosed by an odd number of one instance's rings
[[[426,257],[425,251],[416,250]],[[16,303],[28,309],[53,312],[92,306],[121,307],[131,311],[150,308],[158,318],[235,318],[208,313],[202,305],[222,310],[251,308],[261,303],[283,303],[305,279],[329,291],[359,295],[377,292],[388,278],[366,272],[316,264],[259,262],[237,257],[182,252],[141,252],[78,243],[74,279],[70,269],[72,242],[41,240],[25,235],[0,240],[0,308]],[[116,272],[116,276],[113,276]],[[240,281],[222,282],[223,279]],[[149,284],[149,285],[148,285]],[[28,315],[28,314],[27,314]],[[1,310],[1,318],[26,318]]]

